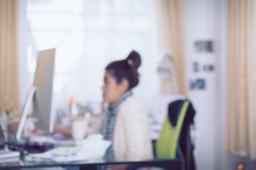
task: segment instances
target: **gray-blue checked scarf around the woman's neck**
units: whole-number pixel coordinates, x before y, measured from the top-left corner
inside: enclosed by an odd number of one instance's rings
[[[119,105],[123,100],[127,99],[127,97],[131,96],[131,91],[125,92],[115,103],[109,104],[109,107],[106,111],[104,121],[101,127],[101,134],[104,136],[105,140],[111,141],[112,144],[109,146],[106,151],[104,158],[107,160],[114,160],[114,151],[113,151],[113,138],[114,138],[114,129],[115,129],[115,118],[117,117],[117,112],[119,109]]]

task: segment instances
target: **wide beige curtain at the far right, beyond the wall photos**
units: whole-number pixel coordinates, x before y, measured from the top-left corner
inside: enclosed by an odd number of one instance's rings
[[[255,6],[254,0],[227,1],[225,150],[251,159],[256,158]]]

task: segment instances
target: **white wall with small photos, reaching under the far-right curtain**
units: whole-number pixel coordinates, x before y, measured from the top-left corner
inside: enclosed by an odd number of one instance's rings
[[[256,169],[256,160],[234,156],[224,151],[226,0],[183,0],[185,58],[187,80],[205,78],[205,91],[189,91],[199,130],[197,169]],[[212,40],[212,54],[195,53],[196,40]],[[192,62],[214,64],[214,73],[193,73]]]

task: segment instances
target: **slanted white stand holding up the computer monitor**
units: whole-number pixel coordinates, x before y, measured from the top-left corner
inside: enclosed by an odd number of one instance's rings
[[[26,103],[25,103],[25,106],[24,106],[24,109],[23,109],[23,112],[22,112],[22,116],[20,117],[18,130],[17,130],[16,136],[15,136],[15,139],[16,139],[17,142],[19,142],[20,139],[21,139],[22,130],[24,128],[24,124],[26,122],[28,111],[29,111],[30,105],[32,103],[35,91],[36,91],[36,87],[33,86],[33,87],[30,88],[30,91],[28,92],[27,100],[26,100]]]

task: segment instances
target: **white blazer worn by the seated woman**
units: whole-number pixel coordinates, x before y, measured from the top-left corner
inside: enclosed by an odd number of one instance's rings
[[[116,160],[148,160],[153,158],[147,116],[134,96],[120,105],[115,120],[113,150]]]

